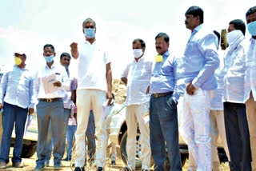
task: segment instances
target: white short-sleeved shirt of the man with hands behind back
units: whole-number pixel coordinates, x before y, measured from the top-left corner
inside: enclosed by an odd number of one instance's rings
[[[141,105],[150,100],[146,89],[150,85],[153,62],[147,60],[144,55],[138,59],[133,58],[122,73],[121,78],[127,78],[126,105]]]

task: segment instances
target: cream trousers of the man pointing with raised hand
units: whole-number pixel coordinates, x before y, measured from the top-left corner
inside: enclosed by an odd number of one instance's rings
[[[77,90],[77,121],[78,129],[75,133],[76,143],[76,167],[82,167],[85,163],[85,135],[90,116],[90,109],[94,111],[96,145],[96,165],[104,167],[106,163],[106,129],[102,128],[104,121],[102,104],[106,101],[106,93],[98,89]]]

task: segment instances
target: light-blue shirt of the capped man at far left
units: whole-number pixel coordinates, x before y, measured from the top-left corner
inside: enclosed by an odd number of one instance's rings
[[[21,108],[34,108],[32,101],[33,75],[30,71],[14,66],[13,70],[3,75],[0,85],[1,103],[3,101],[10,105],[18,105]]]

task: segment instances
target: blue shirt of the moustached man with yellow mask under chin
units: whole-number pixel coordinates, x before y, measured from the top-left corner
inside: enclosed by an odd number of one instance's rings
[[[178,101],[179,93],[176,85],[176,58],[170,56],[169,50],[162,54],[162,62],[155,62],[152,78],[150,79],[150,93],[174,92],[173,99]]]

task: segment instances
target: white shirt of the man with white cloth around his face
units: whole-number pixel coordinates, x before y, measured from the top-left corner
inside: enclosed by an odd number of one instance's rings
[[[246,72],[245,37],[242,35],[226,51],[224,58],[224,92],[222,101],[244,102]]]

